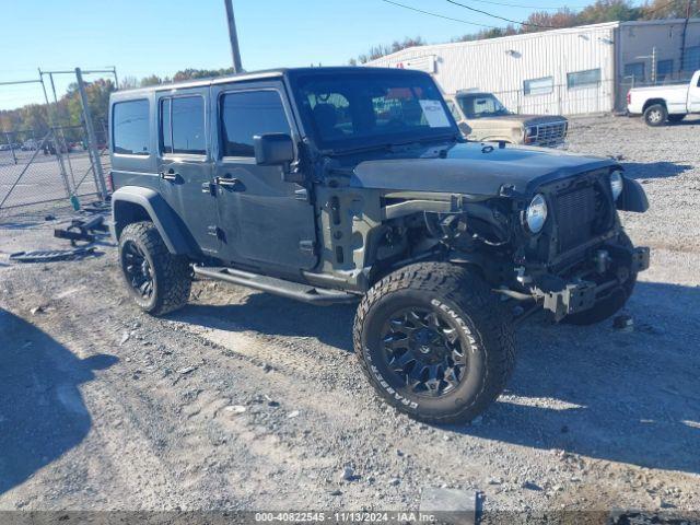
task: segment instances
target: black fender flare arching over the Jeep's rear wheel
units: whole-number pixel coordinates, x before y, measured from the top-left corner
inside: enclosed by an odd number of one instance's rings
[[[151,188],[124,186],[112,195],[112,235],[118,242],[121,230],[131,221],[125,217],[120,203],[129,202],[143,209],[158,229],[171,254],[188,255],[191,248],[178,228],[182,222],[165,199]]]

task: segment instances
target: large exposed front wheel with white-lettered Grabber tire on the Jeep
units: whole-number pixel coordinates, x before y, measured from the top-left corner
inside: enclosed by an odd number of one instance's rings
[[[430,423],[483,412],[515,363],[510,313],[475,271],[445,262],[407,266],[372,287],[353,342],[380,395]]]

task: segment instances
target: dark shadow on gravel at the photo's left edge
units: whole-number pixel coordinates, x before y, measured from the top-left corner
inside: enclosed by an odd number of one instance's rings
[[[78,386],[117,361],[79,359],[0,308],[0,494],[78,445],[91,417]]]

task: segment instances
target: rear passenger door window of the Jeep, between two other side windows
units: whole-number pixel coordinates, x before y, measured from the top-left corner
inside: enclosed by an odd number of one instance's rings
[[[161,151],[206,155],[205,100],[179,96],[161,101]]]

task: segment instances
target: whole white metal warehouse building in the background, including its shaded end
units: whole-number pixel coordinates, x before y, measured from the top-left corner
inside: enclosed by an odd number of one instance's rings
[[[681,62],[688,73],[700,69],[700,19],[685,26],[685,19],[608,22],[411,47],[368,66],[428,71],[445,93],[491,91],[517,113],[610,112],[623,108],[632,84],[689,77]]]

